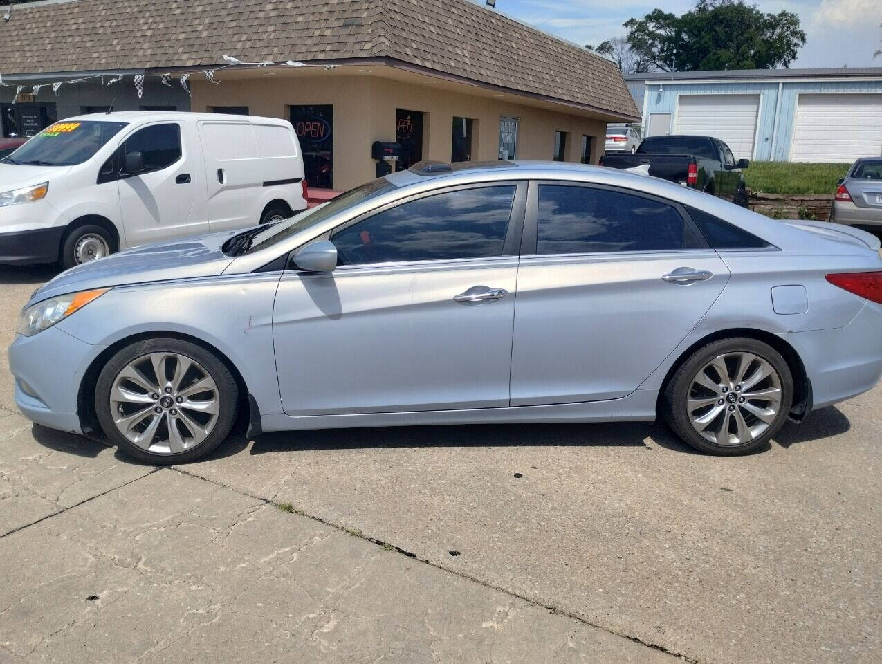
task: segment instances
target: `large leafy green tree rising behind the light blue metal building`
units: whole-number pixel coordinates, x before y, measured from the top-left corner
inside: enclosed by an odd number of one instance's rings
[[[679,17],[656,9],[624,27],[635,58],[661,71],[788,68],[805,43],[796,14],[742,0],[699,0]]]

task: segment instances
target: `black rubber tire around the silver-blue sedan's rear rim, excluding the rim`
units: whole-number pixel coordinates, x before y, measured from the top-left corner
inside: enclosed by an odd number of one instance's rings
[[[750,353],[772,365],[781,384],[780,410],[761,435],[744,444],[720,445],[708,441],[696,431],[690,422],[686,399],[689,398],[693,379],[708,362],[721,354]],[[699,451],[718,456],[747,454],[765,445],[787,422],[793,404],[793,376],[787,362],[773,347],[750,337],[719,339],[700,347],[680,365],[671,377],[662,395],[662,415],[669,427],[684,443]],[[696,411],[701,414],[700,411]]]

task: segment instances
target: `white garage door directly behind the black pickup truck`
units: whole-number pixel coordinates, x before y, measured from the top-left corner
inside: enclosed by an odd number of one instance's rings
[[[681,94],[676,133],[724,141],[736,159],[753,159],[759,94]]]

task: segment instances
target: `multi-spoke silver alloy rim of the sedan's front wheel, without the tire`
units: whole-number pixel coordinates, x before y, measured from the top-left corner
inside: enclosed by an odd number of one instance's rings
[[[183,354],[142,355],[123,367],[110,389],[116,429],[156,454],[176,454],[201,444],[220,412],[213,377]]]

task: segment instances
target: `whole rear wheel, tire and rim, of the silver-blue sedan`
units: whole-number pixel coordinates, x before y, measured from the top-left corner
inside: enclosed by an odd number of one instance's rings
[[[665,419],[685,443],[734,456],[766,444],[787,421],[793,377],[759,339],[720,339],[683,362],[664,398]]]

